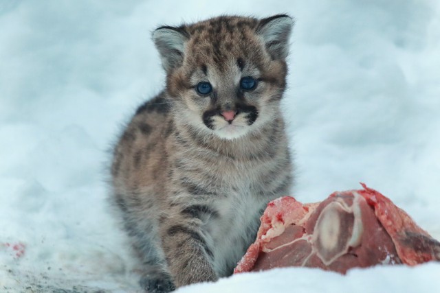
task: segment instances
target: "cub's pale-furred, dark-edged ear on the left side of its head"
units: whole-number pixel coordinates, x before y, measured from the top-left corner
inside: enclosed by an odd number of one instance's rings
[[[184,60],[185,43],[189,34],[183,27],[159,27],[153,32],[153,41],[162,59],[162,66],[169,73]]]

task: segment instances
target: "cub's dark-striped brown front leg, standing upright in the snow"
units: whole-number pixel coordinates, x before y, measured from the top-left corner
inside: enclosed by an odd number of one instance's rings
[[[218,279],[212,269],[214,255],[201,229],[201,220],[169,217],[160,224],[168,270],[176,287]]]

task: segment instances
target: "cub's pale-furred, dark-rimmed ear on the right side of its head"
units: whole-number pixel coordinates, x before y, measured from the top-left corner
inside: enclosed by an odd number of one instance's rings
[[[294,20],[287,14],[261,19],[256,34],[263,37],[266,49],[274,60],[284,60],[289,54],[289,36]]]

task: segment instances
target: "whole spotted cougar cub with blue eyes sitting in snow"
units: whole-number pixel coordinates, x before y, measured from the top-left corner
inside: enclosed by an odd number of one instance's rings
[[[148,292],[230,275],[267,202],[289,194],[280,101],[292,25],[220,16],[153,32],[166,88],[137,109],[111,168]]]

